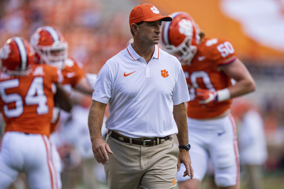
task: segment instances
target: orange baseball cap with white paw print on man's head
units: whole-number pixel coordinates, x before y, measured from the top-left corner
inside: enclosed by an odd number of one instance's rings
[[[129,26],[132,23],[137,24],[138,22],[154,22],[157,20],[162,20],[166,22],[172,21],[170,16],[162,16],[159,10],[151,4],[143,4],[135,6],[129,15]]]

